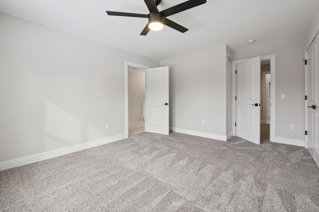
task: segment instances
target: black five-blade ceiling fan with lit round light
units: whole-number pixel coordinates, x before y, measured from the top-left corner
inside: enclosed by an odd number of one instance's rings
[[[147,35],[151,29],[158,31],[163,28],[163,24],[184,33],[188,29],[167,19],[166,17],[169,15],[173,15],[178,12],[184,11],[186,9],[190,9],[192,7],[198,6],[200,4],[206,3],[206,0],[188,0],[183,3],[177,4],[175,6],[172,6],[168,9],[159,11],[157,6],[160,4],[161,0],[144,0],[144,1],[150,10],[149,14],[115,12],[115,11],[106,11],[106,12],[108,13],[108,15],[149,18],[149,23],[145,26],[145,28],[143,29],[140,35]]]

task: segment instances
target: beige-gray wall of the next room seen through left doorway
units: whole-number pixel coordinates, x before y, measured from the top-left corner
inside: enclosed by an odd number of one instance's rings
[[[143,101],[145,101],[145,71],[128,72],[129,119],[143,118]]]

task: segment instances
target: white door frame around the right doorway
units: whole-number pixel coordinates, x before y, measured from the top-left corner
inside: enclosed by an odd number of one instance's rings
[[[252,58],[248,58],[252,59]],[[233,136],[236,136],[236,65],[238,63],[244,62],[245,60],[237,60],[232,63],[232,131]],[[271,97],[271,106],[270,106],[270,141],[276,142],[276,55],[267,55],[261,56],[260,60],[270,60],[270,97]]]

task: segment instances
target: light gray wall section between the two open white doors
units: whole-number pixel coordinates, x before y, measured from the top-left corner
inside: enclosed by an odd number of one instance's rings
[[[160,61],[169,66],[171,127],[226,135],[226,63],[226,45]]]

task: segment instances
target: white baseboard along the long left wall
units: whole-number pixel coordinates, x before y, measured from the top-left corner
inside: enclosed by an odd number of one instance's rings
[[[89,141],[86,143],[81,143],[81,144],[77,144],[77,145],[73,145],[73,146],[68,146],[68,147],[64,147],[64,148],[60,148],[60,149],[55,149],[55,150],[51,150],[51,151],[47,151],[47,152],[42,152],[42,153],[38,153],[35,155],[29,155],[29,156],[25,156],[25,157],[21,157],[21,158],[16,158],[13,160],[3,161],[3,162],[0,162],[0,171],[6,170],[6,169],[11,169],[11,168],[18,167],[18,166],[23,166],[26,164],[30,164],[30,163],[34,163],[34,162],[38,162],[38,161],[42,161],[42,160],[46,160],[46,159],[50,159],[50,158],[54,158],[54,157],[69,154],[72,152],[77,152],[77,151],[80,151],[83,149],[88,149],[88,148],[92,148],[95,146],[100,146],[100,145],[111,143],[114,141],[118,141],[118,140],[121,140],[124,138],[125,138],[125,134],[121,134],[121,135],[102,138],[99,140]]]

